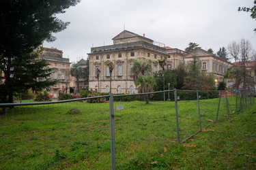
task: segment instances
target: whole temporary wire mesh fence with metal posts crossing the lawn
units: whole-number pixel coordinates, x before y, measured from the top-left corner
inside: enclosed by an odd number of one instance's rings
[[[255,90],[165,90],[0,104],[0,169],[124,169],[254,103]],[[152,160],[153,161],[153,160]]]

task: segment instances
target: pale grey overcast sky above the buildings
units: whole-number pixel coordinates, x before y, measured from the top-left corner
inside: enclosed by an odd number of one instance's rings
[[[230,41],[251,41],[256,49],[256,21],[238,7],[252,7],[253,0],[81,0],[65,14],[57,15],[68,28],[44,42],[63,51],[70,62],[87,58],[91,47],[112,45],[124,31],[184,50],[189,42],[217,52]]]

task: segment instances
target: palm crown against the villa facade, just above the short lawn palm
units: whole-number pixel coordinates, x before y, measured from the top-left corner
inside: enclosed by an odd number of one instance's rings
[[[136,82],[137,78],[141,75],[148,75],[152,71],[149,61],[134,61],[130,72],[133,75],[133,80]]]

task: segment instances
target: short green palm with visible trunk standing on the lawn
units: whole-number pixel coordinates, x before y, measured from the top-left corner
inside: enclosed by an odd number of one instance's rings
[[[135,85],[139,86],[140,93],[150,92],[153,90],[153,87],[156,85],[156,81],[150,75],[148,76],[141,75],[139,78],[137,78]],[[146,104],[150,103],[149,95],[145,95],[145,101],[146,101]]]

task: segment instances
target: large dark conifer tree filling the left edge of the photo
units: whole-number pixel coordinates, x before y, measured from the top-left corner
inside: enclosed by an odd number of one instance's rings
[[[46,61],[38,60],[36,48],[44,40],[54,41],[52,33],[66,29],[56,14],[79,0],[0,1],[0,69],[5,82],[0,85],[1,101],[13,102],[13,95],[32,88],[40,91],[53,85]],[[44,70],[46,68],[46,70]]]

